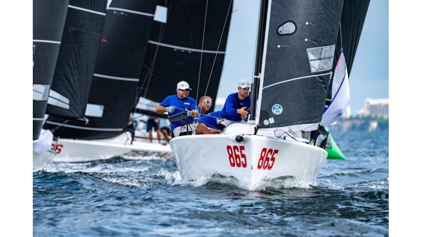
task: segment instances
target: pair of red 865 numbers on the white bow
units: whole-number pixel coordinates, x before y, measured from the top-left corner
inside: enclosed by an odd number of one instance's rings
[[[228,161],[231,167],[246,168],[246,155],[243,154],[245,146],[227,146]],[[260,158],[258,160],[257,168],[263,170],[273,169],[276,158],[274,155],[278,154],[279,150],[262,148]],[[270,157],[271,156],[271,157]]]

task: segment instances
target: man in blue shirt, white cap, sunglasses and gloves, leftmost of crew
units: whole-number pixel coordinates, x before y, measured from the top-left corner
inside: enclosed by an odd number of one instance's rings
[[[188,111],[188,116],[191,118],[197,117],[199,111],[196,110],[196,101],[194,98],[188,97],[189,84],[186,81],[181,81],[177,84],[176,95],[167,96],[163,102],[161,102],[155,113],[164,114],[168,112],[168,116],[177,115],[182,112]],[[186,127],[186,119],[177,120],[171,123],[172,137],[187,135],[188,128]],[[189,128],[189,134],[192,134],[192,129]]]

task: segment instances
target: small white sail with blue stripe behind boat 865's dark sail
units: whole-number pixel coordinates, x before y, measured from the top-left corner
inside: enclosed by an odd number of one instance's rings
[[[350,101],[349,75],[344,53],[342,52],[334,71],[332,99],[322,115],[321,125],[327,126],[340,119]]]

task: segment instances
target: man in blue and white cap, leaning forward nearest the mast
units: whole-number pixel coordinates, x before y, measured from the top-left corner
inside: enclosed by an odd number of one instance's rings
[[[240,80],[237,83],[237,92],[227,96],[221,111],[216,111],[202,116],[199,119],[198,129],[204,130],[204,127],[210,129],[210,132],[203,134],[216,134],[218,129],[223,129],[233,121],[247,120],[248,111],[251,108],[251,99],[249,98],[249,89],[251,83],[247,80]]]

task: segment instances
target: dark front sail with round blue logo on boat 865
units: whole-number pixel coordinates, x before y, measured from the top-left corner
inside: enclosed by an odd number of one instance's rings
[[[321,121],[343,1],[268,3],[257,118],[262,128],[315,130]]]

